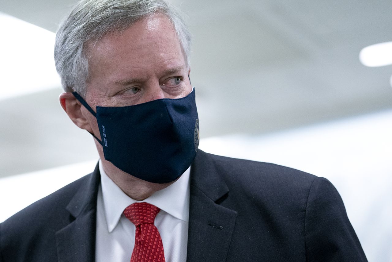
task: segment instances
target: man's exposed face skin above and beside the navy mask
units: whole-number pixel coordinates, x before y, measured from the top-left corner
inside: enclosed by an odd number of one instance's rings
[[[192,91],[180,42],[166,16],[136,22],[121,35],[107,34],[89,48],[86,102],[95,106],[129,106]],[[96,119],[82,108],[94,134]]]

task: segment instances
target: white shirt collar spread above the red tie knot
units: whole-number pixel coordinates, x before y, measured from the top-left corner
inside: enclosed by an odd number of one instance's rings
[[[177,219],[189,222],[189,176],[191,167],[176,182],[169,185],[169,187],[155,192],[143,201],[137,201],[127,196],[107,176],[105,170],[103,170],[101,161],[99,161],[99,170],[101,174],[103,207],[109,233],[117,226],[124,209],[136,202],[150,203]]]

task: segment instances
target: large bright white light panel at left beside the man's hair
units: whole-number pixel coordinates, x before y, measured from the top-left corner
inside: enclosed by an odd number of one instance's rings
[[[0,100],[59,88],[53,32],[0,13]]]

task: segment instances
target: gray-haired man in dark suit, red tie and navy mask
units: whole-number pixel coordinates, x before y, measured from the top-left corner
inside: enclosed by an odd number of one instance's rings
[[[92,174],[0,225],[0,261],[366,261],[329,181],[198,150],[190,37],[163,0],[83,0],[57,33]]]

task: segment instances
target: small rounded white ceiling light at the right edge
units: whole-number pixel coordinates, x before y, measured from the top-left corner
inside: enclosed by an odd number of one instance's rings
[[[359,61],[365,66],[387,66],[392,64],[392,42],[367,46],[359,52]]]

